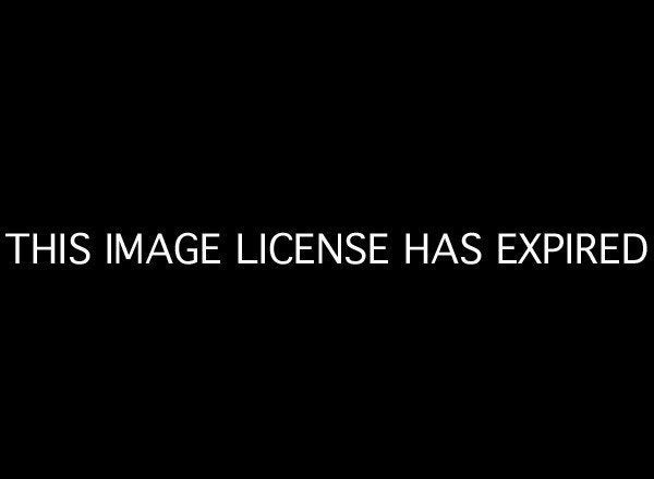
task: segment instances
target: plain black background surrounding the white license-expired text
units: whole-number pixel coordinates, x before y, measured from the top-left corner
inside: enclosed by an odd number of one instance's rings
[[[269,13],[33,12],[3,60],[2,232],[388,231],[393,265],[5,261],[13,450],[623,467],[647,423],[651,259],[501,268],[494,237],[651,241],[645,32],[588,12]],[[404,232],[467,231],[480,267],[401,266]]]

